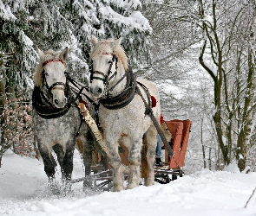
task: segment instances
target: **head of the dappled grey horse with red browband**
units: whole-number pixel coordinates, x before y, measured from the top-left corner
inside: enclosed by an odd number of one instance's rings
[[[65,60],[69,54],[69,48],[62,52],[49,50],[43,53],[39,48],[40,64],[36,72],[36,86],[46,87],[46,92],[52,95],[50,103],[56,108],[63,108],[67,103],[65,89],[67,87]]]

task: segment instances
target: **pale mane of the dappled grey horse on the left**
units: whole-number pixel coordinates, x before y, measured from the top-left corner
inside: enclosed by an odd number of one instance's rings
[[[42,72],[43,72],[43,62],[45,60],[50,60],[54,58],[58,58],[59,54],[61,54],[61,51],[54,51],[52,49],[49,49],[44,53],[43,59],[40,58],[39,64],[36,67],[36,73],[35,73],[35,85],[36,86],[42,86]]]

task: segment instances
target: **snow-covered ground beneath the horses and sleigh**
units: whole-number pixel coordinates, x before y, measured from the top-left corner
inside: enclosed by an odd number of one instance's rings
[[[77,152],[74,163],[73,178],[82,177]],[[0,168],[0,215],[256,215],[256,194],[244,207],[255,187],[256,173],[202,170],[166,185],[155,183],[120,193],[84,193],[80,182],[66,196],[53,195],[47,187],[43,162],[8,151]]]

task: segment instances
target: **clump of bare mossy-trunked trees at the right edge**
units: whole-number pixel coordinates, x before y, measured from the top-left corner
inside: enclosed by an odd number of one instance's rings
[[[199,1],[200,24],[205,35],[200,64],[214,82],[213,121],[226,165],[235,157],[240,171],[246,168],[246,156],[253,142],[254,101],[254,8],[252,3]],[[211,19],[206,19],[211,16]],[[204,54],[210,48],[213,67]]]

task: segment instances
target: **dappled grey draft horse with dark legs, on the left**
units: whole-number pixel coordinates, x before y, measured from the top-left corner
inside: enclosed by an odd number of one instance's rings
[[[87,151],[91,153],[89,145],[93,145],[93,141],[89,141],[88,128],[82,123],[65,73],[69,49],[65,48],[62,52],[49,50],[46,53],[38,49],[37,52],[40,55],[40,62],[36,70],[33,91],[33,126],[50,187],[53,192],[59,193],[55,184],[56,162],[51,150],[56,152],[62,169],[62,180],[70,187],[78,132],[80,131],[79,137],[84,144],[84,155],[88,155]],[[90,157],[84,157],[84,165],[86,175],[89,175]]]

